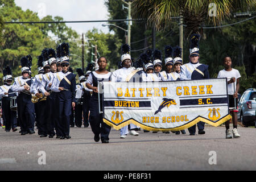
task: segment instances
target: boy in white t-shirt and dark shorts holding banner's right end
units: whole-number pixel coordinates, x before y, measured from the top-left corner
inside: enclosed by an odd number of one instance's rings
[[[228,95],[229,95],[229,107],[233,107],[234,109],[230,109],[230,113],[232,113],[232,122],[233,122],[233,136],[234,138],[240,137],[237,131],[237,98],[238,98],[238,90],[240,88],[239,78],[241,77],[239,71],[231,67],[232,61],[229,56],[224,57],[223,60],[225,69],[222,69],[218,72],[218,78],[228,78]],[[235,84],[235,86],[233,85]],[[236,98],[236,105],[235,99]],[[236,108],[235,108],[236,106]],[[226,126],[226,138],[232,138],[231,130],[229,129],[229,121],[225,122]]]

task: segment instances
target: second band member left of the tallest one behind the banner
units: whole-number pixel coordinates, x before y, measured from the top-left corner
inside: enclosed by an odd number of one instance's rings
[[[166,66],[166,71],[160,72],[160,75],[162,76],[163,81],[170,81],[170,73],[172,72],[172,67],[174,65],[174,61],[172,59],[172,52],[173,49],[171,46],[164,47],[164,54],[166,59],[164,59],[164,63]]]

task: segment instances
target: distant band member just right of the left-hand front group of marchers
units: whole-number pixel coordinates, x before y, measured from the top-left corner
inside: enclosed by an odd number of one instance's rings
[[[79,75],[79,84],[76,84],[76,106],[75,106],[75,125],[77,127],[82,126],[82,96],[84,95],[84,91],[82,90],[82,82],[86,81],[86,77],[84,76],[84,72],[81,68],[76,69],[77,75]],[[77,98],[77,92],[80,92],[79,98]]]

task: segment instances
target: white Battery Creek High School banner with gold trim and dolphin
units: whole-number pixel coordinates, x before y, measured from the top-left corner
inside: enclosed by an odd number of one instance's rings
[[[106,124],[133,123],[150,131],[180,131],[202,121],[219,126],[229,115],[226,78],[160,82],[102,82]]]

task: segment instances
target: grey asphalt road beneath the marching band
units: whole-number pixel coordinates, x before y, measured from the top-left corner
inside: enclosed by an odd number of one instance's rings
[[[18,131],[0,129],[1,171],[256,169],[254,128],[238,126],[241,138],[232,139],[225,139],[223,126],[205,126],[206,134],[195,136],[189,136],[188,130],[185,135],[142,130],[138,137],[127,135],[125,139],[112,129],[108,144],[94,142],[90,127],[71,128],[72,138],[64,140],[20,135]]]

